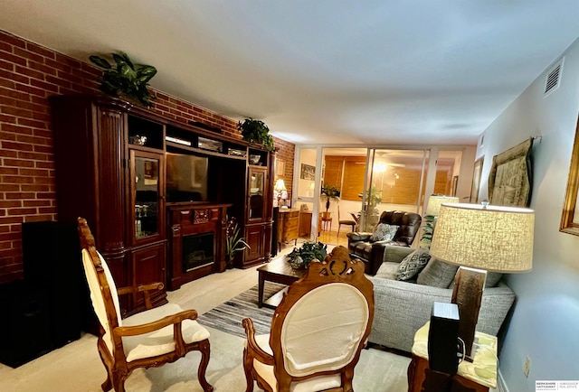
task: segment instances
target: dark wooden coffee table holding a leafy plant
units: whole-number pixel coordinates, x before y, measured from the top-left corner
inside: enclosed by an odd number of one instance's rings
[[[281,298],[283,298],[283,294],[285,292],[285,289],[281,290],[280,293],[274,294],[266,301],[263,301],[263,285],[265,285],[266,280],[273,283],[279,283],[281,285],[291,285],[292,283],[299,280],[299,278],[306,275],[305,269],[296,270],[291,268],[285,256],[274,258],[265,266],[260,266],[257,271],[259,273],[259,293],[257,305],[260,308],[261,306],[267,306],[275,309],[281,302]]]

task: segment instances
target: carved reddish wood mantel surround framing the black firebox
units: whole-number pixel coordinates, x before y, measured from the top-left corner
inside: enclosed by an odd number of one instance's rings
[[[171,254],[169,255],[169,290],[176,290],[187,282],[214,272],[223,272],[225,261],[225,236],[227,208],[232,204],[183,204],[167,206],[170,229]],[[183,239],[198,234],[214,234],[214,262],[190,270],[184,268]]]

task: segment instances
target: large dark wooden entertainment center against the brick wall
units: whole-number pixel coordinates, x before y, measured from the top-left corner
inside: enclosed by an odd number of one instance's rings
[[[51,104],[59,221],[88,220],[118,286],[157,281],[176,290],[223,272],[232,218],[251,246],[233,265],[269,261],[273,153],[121,99]],[[166,303],[165,290],[152,302]],[[137,313],[144,303],[135,297],[122,308]]]

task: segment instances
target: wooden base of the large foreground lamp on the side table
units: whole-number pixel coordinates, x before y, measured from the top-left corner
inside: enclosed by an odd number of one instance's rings
[[[479,321],[479,309],[482,302],[482,291],[487,280],[487,271],[461,266],[454,275],[451,303],[459,306],[459,337],[464,341],[465,359],[474,358],[474,334]]]

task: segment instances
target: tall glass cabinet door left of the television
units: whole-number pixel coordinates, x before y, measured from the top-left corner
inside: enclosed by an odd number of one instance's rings
[[[157,154],[131,151],[134,238],[139,241],[161,235],[161,158]]]

